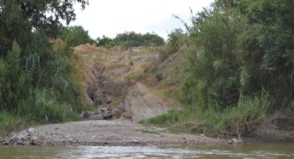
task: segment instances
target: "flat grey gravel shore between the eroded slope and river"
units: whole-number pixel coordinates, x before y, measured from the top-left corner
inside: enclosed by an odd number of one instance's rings
[[[143,127],[129,120],[90,120],[46,124],[10,133],[1,144],[86,146],[192,146],[228,144],[203,135],[174,134],[167,129]],[[25,133],[24,133],[25,132]],[[22,134],[22,135],[21,135]]]

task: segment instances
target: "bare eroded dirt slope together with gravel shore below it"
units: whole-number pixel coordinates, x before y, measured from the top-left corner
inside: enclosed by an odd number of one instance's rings
[[[89,115],[91,120],[46,124],[11,133],[0,139],[0,142],[119,146],[226,144],[226,140],[208,138],[204,135],[177,135],[169,133],[167,129],[138,124],[137,121],[140,119],[151,118],[175,108],[173,100],[150,94],[149,88],[144,84],[126,79],[130,72],[140,69],[140,64],[156,56],[142,49],[107,54],[92,46],[91,53],[81,50],[82,58],[89,66],[89,71],[85,71],[85,94],[97,109],[96,112],[84,112],[83,116]],[[114,119],[115,117],[118,119]]]

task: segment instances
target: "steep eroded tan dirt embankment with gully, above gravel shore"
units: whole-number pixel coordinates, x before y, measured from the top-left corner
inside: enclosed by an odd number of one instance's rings
[[[89,57],[85,51],[82,53],[86,61]],[[131,50],[116,47],[106,55],[90,52],[88,56],[91,59],[95,56],[96,60],[88,63],[91,67],[85,74],[86,96],[97,111],[85,112],[82,114],[85,118],[140,120],[172,109],[172,100],[147,93],[147,86],[132,79],[148,66],[146,63],[154,59],[156,53],[142,47]]]

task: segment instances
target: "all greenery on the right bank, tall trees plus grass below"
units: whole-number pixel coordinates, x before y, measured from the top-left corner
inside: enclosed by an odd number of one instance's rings
[[[187,45],[178,52],[183,76],[175,78],[185,106],[145,123],[241,136],[275,111],[293,111],[293,7],[286,0],[217,0],[192,15],[187,34],[173,38]]]

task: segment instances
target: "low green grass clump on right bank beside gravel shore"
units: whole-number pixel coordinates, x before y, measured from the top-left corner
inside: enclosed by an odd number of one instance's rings
[[[270,104],[268,95],[263,93],[255,97],[241,97],[237,106],[223,111],[219,110],[215,102],[209,102],[206,109],[200,104],[190,104],[182,110],[169,111],[140,123],[169,127],[171,131],[233,135],[241,138],[264,122]]]

